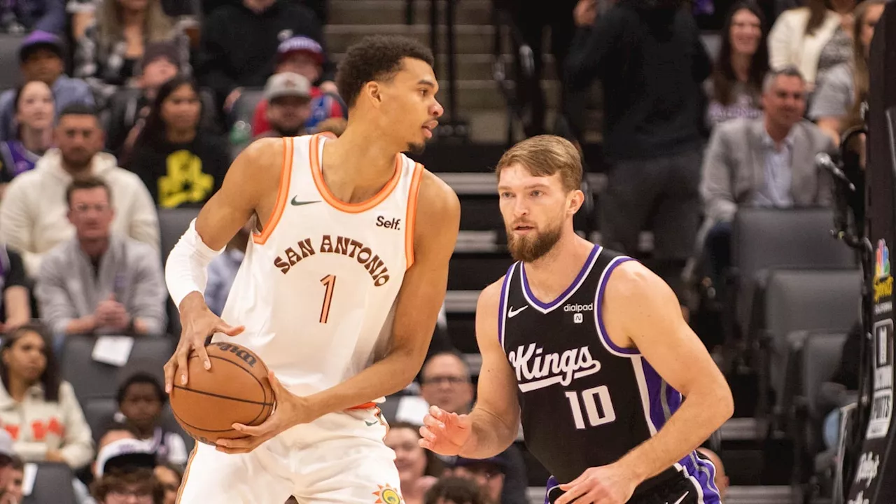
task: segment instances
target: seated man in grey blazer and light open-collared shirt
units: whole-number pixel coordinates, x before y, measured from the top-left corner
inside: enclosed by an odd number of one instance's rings
[[[703,160],[706,220],[698,250],[713,283],[730,265],[731,221],[739,206],[791,208],[831,203],[831,179],[815,167],[831,139],[803,119],[806,81],[795,67],[772,71],[762,83],[762,117],[716,127]]]

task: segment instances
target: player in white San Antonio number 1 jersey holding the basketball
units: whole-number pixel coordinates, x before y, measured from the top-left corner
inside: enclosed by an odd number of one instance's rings
[[[460,221],[452,190],[401,154],[422,151],[442,115],[432,64],[409,39],[349,48],[338,77],[350,110],[340,138],[251,144],[172,251],[168,290],[184,330],[165,366],[168,391],[189,383],[194,348],[211,368],[203,342],[215,335],[256,352],[276,394],[267,421],[234,426],[246,437],[197,443],[180,502],[400,502],[372,401],[420,369]],[[202,299],[206,265],[253,217],[216,317]]]

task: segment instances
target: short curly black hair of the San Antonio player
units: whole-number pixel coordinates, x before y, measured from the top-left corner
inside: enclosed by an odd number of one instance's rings
[[[336,85],[349,109],[355,106],[364,84],[388,81],[401,70],[401,60],[412,57],[434,64],[433,52],[417,40],[396,35],[375,35],[352,45],[339,65]]]

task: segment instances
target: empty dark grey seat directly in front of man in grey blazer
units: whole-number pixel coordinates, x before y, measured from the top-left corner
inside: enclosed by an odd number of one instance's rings
[[[853,251],[831,237],[828,208],[743,208],[738,210],[731,242],[732,272],[737,280],[737,323],[743,335],[762,329],[762,290],[770,268],[855,267]]]

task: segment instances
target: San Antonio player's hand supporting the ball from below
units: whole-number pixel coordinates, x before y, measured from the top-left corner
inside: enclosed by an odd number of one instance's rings
[[[251,426],[242,423],[234,423],[233,429],[246,434],[245,438],[218,439],[218,451],[224,453],[249,453],[262,445],[264,441],[271,439],[280,432],[296,426],[300,423],[313,421],[314,414],[306,404],[306,398],[295,395],[280,384],[280,380],[274,376],[273,371],[268,373],[271,380],[271,388],[274,391],[274,411],[267,420],[260,425]]]

